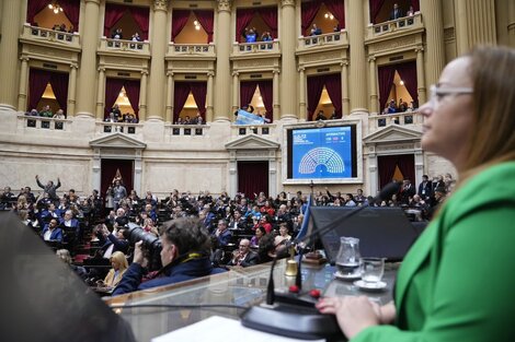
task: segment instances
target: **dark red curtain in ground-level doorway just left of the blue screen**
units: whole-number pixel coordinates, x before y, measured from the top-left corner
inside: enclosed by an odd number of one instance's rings
[[[253,198],[260,191],[268,193],[268,162],[238,162],[238,192]]]

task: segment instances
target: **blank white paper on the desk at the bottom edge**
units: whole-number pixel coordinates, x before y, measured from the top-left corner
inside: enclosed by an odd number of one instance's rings
[[[242,338],[243,337],[243,338]],[[294,342],[297,340],[245,328],[239,320],[211,316],[194,325],[165,333],[152,342]],[[310,340],[324,342],[325,340]]]

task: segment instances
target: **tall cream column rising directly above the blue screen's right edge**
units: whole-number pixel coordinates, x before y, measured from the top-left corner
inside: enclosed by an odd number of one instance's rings
[[[368,111],[363,1],[348,2],[348,44],[351,46],[351,114]]]

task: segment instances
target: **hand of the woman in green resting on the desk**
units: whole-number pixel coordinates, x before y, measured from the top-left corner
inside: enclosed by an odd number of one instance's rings
[[[390,315],[382,317],[382,308],[366,296],[322,298],[317,303],[317,308],[322,314],[335,315],[340,328],[348,339],[365,328],[387,323],[386,320],[390,318]],[[389,308],[386,311],[390,314]]]

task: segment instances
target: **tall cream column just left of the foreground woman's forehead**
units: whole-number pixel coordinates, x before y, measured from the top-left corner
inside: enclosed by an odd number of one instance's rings
[[[428,84],[438,82],[439,74],[445,67],[445,45],[444,45],[444,15],[442,12],[442,0],[421,1],[421,12],[425,26],[425,58],[426,58],[426,81]],[[416,60],[419,64],[419,60]],[[419,86],[426,87],[428,84]],[[421,102],[421,101],[419,101]]]

